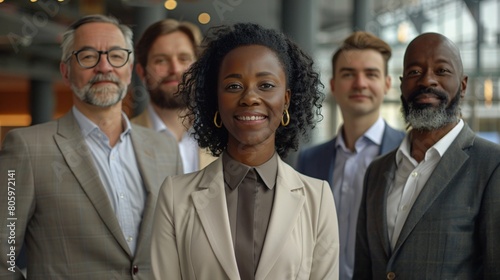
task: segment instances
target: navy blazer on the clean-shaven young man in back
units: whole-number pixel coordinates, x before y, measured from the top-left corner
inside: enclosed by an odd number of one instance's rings
[[[396,149],[401,144],[404,136],[403,131],[396,130],[385,123],[379,155]],[[326,180],[330,183],[330,187],[333,188],[333,168],[335,167],[335,156],[337,154],[335,149],[336,141],[337,137],[300,152],[296,166],[297,171],[314,178]]]

